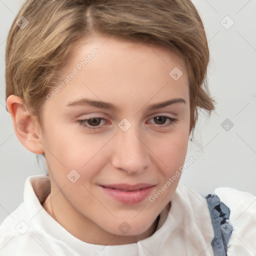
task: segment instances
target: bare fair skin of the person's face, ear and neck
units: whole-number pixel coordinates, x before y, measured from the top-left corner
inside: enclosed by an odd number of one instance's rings
[[[51,191],[44,209],[80,240],[127,244],[153,233],[157,215],[177,187],[180,176],[154,202],[148,199],[185,160],[190,133],[188,76],[182,59],[164,46],[94,34],[73,48],[62,78],[94,48],[99,50],[95,57],[51,100],[45,99],[42,126],[24,109],[21,98],[11,95],[6,103],[20,142],[46,157]],[[183,73],[178,80],[169,75],[174,67]],[[67,106],[81,98],[110,102],[117,110]],[[185,103],[148,110],[151,104],[173,98]],[[176,121],[157,122],[157,116]],[[100,128],[77,122],[92,117],[103,118],[96,124]],[[18,129],[15,124],[22,118],[27,125]],[[127,131],[118,127],[123,118],[131,123]],[[67,178],[72,169],[80,175],[74,183]],[[116,201],[99,187],[141,182],[155,187],[135,204]],[[123,221],[130,226],[125,234],[118,228]]]

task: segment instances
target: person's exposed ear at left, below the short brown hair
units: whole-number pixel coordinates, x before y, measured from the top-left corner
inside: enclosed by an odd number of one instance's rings
[[[34,115],[30,115],[21,97],[10,95],[6,106],[11,115],[13,127],[18,140],[35,154],[44,153],[41,144],[41,126]]]

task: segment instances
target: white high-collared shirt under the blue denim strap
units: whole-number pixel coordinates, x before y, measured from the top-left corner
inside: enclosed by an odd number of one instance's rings
[[[79,240],[42,207],[48,191],[45,175],[25,181],[24,201],[0,225],[0,255],[175,255],[213,256],[214,236],[206,199],[178,184],[171,207],[160,212],[156,231],[136,243],[97,245]],[[256,255],[256,196],[234,188],[214,190],[230,209],[233,225],[228,256]]]

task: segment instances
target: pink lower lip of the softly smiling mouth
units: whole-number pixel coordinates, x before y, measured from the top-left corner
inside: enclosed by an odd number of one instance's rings
[[[123,191],[109,187],[100,186],[104,192],[117,201],[125,204],[133,204],[143,201],[151,192],[154,186],[149,186],[135,191]]]

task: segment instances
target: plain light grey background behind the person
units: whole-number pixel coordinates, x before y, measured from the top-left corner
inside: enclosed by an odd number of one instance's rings
[[[256,1],[193,2],[205,25],[209,87],[217,105],[209,119],[200,115],[186,161],[197,150],[202,155],[184,169],[180,182],[202,195],[219,186],[256,194]],[[5,43],[22,3],[0,0],[0,222],[22,202],[26,177],[44,173],[35,154],[18,141],[5,110]],[[228,131],[221,126],[226,118],[234,124]]]

